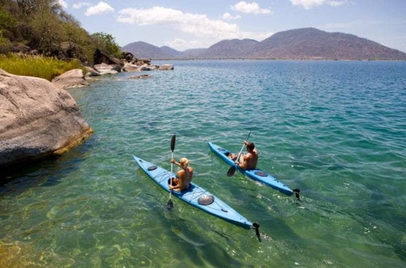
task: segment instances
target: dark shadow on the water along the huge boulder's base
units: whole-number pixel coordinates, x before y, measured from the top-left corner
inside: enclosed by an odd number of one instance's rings
[[[81,163],[87,158],[95,142],[96,138],[93,136],[61,156],[19,163],[2,170],[0,196],[10,192],[19,193],[35,186],[49,187],[58,184],[67,174],[81,168]]]

